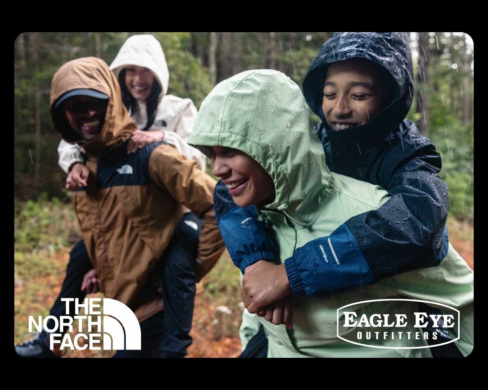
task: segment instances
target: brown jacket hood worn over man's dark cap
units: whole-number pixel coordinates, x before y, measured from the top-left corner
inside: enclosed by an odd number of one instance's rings
[[[54,107],[62,95],[79,88],[93,89],[109,97],[102,131],[98,137],[88,142],[69,125],[62,106]],[[61,66],[51,82],[50,107],[54,126],[63,139],[82,145],[85,151],[92,154],[107,146],[119,145],[136,130],[134,121],[122,103],[117,79],[108,65],[95,57],[74,59]]]

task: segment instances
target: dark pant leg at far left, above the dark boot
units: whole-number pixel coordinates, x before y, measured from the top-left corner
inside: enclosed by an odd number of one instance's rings
[[[66,267],[66,277],[62,282],[61,292],[59,293],[58,298],[56,298],[56,301],[49,312],[50,315],[58,318],[58,323],[61,315],[67,315],[66,303],[62,302],[61,298],[79,298],[79,300],[82,301],[86,294],[80,290],[81,283],[83,282],[83,276],[85,273],[91,269],[93,269],[93,264],[90,261],[90,257],[88,257],[85,244],[83,240],[78,241],[69,254],[69,262]],[[74,310],[75,304],[74,302],[70,302],[69,315],[73,316]],[[47,326],[49,329],[53,329],[54,325],[54,320],[48,321]],[[58,329],[56,329],[55,333],[58,332]],[[43,331],[43,335],[44,333],[46,333],[45,335],[48,336],[47,332]]]

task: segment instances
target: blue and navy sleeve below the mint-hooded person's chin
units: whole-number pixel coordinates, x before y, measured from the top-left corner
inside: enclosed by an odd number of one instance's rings
[[[242,273],[259,260],[276,261],[276,245],[266,232],[264,221],[258,219],[256,208],[237,206],[220,180],[215,187],[214,208],[225,246]]]

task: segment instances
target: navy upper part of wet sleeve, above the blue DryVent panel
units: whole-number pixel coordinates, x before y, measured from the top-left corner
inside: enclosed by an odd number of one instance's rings
[[[447,254],[447,184],[438,176],[441,157],[424,137],[395,139],[382,161],[378,184],[391,198],[346,225],[375,280],[440,264]]]

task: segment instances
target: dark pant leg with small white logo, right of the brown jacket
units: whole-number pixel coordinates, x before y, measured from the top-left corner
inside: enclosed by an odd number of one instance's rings
[[[195,300],[195,261],[202,221],[187,213],[179,222],[163,254],[163,357],[184,357]]]

